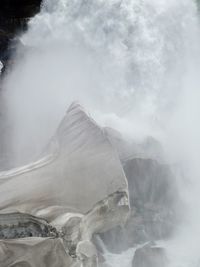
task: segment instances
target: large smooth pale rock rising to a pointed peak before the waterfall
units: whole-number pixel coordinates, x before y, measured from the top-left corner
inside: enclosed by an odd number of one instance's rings
[[[93,234],[122,224],[129,213],[127,180],[118,155],[78,104],[70,106],[42,155],[37,162],[0,173],[0,237],[16,239],[0,244],[2,257],[11,255],[3,266],[69,267],[82,262],[95,267]],[[35,239],[40,236],[57,241]],[[22,237],[29,238],[18,240]],[[50,262],[52,249],[55,258]]]

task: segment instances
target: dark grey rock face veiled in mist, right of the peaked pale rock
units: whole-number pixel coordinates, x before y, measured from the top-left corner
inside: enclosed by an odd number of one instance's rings
[[[151,159],[124,163],[131,213],[124,228],[102,235],[106,246],[121,252],[135,244],[168,238],[177,222],[178,193],[170,167]]]

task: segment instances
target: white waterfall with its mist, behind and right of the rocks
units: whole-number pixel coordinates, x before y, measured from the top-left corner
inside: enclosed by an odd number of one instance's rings
[[[173,267],[199,266],[198,23],[192,0],[46,0],[4,83],[16,165],[37,156],[74,100],[187,162],[180,192],[189,220],[167,244]]]

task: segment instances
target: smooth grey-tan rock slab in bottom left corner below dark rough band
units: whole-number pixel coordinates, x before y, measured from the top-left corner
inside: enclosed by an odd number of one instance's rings
[[[61,239],[0,240],[1,267],[81,266],[67,255]]]

